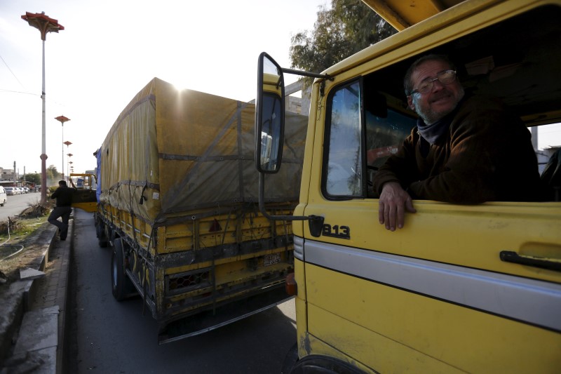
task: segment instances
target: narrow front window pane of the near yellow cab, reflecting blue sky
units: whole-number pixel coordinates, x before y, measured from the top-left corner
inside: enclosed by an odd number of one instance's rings
[[[332,197],[363,195],[360,84],[339,88],[330,100],[323,190]]]

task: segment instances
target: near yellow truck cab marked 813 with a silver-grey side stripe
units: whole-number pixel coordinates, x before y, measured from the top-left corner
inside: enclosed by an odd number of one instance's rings
[[[561,202],[419,199],[391,232],[372,177],[416,124],[403,76],[421,55],[447,55],[466,90],[529,128],[561,122],[561,1],[364,2],[399,32],[313,82],[283,373],[560,373]],[[294,71],[266,53],[258,71],[256,131],[269,141],[256,167],[269,175],[284,167],[286,127],[271,124],[283,96],[266,82],[283,92]]]

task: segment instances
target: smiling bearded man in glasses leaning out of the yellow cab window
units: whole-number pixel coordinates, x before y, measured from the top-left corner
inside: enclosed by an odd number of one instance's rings
[[[426,55],[405,74],[417,126],[374,175],[378,218],[402,228],[412,199],[475,204],[539,201],[538,164],[520,117],[492,98],[468,95],[450,60]]]

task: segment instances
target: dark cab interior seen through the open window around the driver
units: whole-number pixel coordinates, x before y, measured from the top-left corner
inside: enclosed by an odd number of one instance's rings
[[[528,127],[560,123],[560,19],[558,6],[541,6],[363,76],[369,180],[415,126],[403,76],[421,55],[447,55],[466,93],[501,99]],[[368,191],[368,197],[377,197]]]

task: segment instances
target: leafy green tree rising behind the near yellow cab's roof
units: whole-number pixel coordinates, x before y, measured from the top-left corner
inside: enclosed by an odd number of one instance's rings
[[[292,36],[292,68],[322,72],[367,46],[395,34],[396,30],[360,0],[332,0],[331,9],[320,7],[318,20],[308,31]]]

